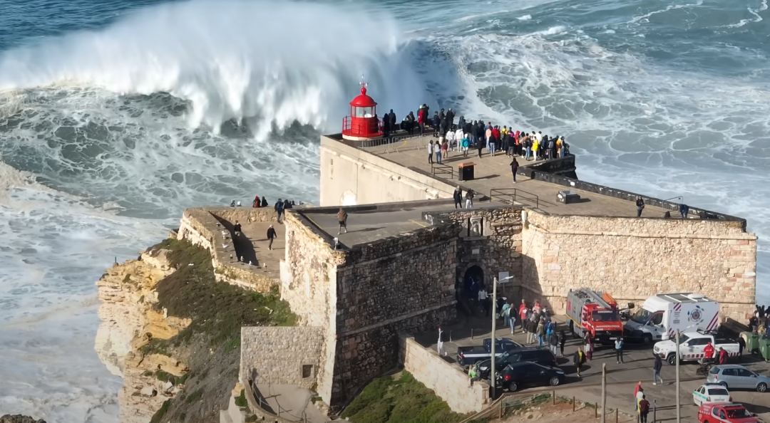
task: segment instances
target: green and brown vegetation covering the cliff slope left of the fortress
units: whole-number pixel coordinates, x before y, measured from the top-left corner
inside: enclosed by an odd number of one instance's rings
[[[176,336],[152,339],[142,352],[169,355],[185,362],[189,372],[176,380],[185,385],[179,401],[166,401],[153,421],[212,421],[227,407],[238,381],[241,326],[294,325],[296,315],[280,300],[278,288],[267,294],[217,282],[209,251],[187,241],[166,239],[150,251],[168,250],[176,268],[156,286],[157,310],[192,323]],[[156,378],[173,375],[156,371]],[[183,416],[183,417],[182,417]]]

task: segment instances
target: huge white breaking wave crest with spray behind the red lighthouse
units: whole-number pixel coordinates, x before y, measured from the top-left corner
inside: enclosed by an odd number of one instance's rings
[[[374,30],[376,28],[376,30]],[[388,108],[425,102],[410,55],[387,15],[311,3],[193,1],[143,8],[100,31],[0,56],[0,90],[98,86],[168,92],[192,104],[189,125],[229,119],[256,128],[336,128],[366,75]]]

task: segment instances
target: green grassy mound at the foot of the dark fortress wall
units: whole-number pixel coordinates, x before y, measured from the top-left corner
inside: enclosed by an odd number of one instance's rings
[[[353,423],[457,423],[468,417],[451,411],[407,371],[371,381],[342,416]]]

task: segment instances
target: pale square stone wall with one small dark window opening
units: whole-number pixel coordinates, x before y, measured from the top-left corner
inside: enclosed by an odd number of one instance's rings
[[[241,328],[240,380],[315,390],[324,335],[308,326]],[[303,377],[305,365],[312,368]]]

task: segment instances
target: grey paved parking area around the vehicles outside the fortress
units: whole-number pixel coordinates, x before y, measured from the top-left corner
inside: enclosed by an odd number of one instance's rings
[[[657,400],[658,421],[675,421],[676,418],[676,397],[675,397],[675,367],[665,364],[661,370],[661,377],[664,385],[652,385],[652,348],[651,346],[627,343],[624,351],[624,364],[618,364],[615,360],[614,350],[611,347],[598,346],[594,351],[594,358],[583,366],[581,378],[577,377],[574,365],[572,365],[572,355],[577,347],[582,345],[582,341],[576,338],[570,338],[567,325],[563,322],[564,316],[554,316],[554,320],[559,322],[557,331],[562,329],[567,332],[567,343],[564,346],[564,357],[557,358],[559,367],[567,374],[565,385],[557,390],[557,395],[566,397],[574,396],[580,401],[599,403],[601,405],[601,368],[602,364],[607,365],[608,382],[608,408],[619,408],[621,411],[633,412],[634,402],[632,400],[634,385],[637,381],[642,382],[642,386],[648,400],[652,403]],[[466,317],[460,324],[454,325],[444,330],[451,331],[452,341],[446,342],[444,348],[447,350],[447,361],[455,362],[458,346],[481,345],[484,338],[490,336],[490,320],[487,318]],[[526,336],[517,327],[514,335],[511,335],[510,328],[502,328],[502,322],[498,321],[499,330],[496,331],[498,338],[511,338],[521,344],[525,344]],[[474,338],[470,338],[471,329],[473,329]],[[415,337],[415,340],[427,348],[436,348],[437,333],[427,333]],[[729,361],[731,364],[738,361]],[[758,360],[751,356],[745,356],[742,363],[753,371],[764,375],[770,374],[770,365],[765,361]],[[697,421],[698,408],[692,405],[691,392],[698,386],[705,383],[705,377],[695,375],[698,365],[687,362],[679,366],[680,368],[680,404],[682,405],[682,421]],[[537,391],[541,388],[532,388],[527,391]],[[548,388],[542,388],[548,391]],[[755,391],[731,391],[733,400],[740,402],[750,411],[757,413],[766,421],[770,421],[770,393],[759,393]],[[498,394],[499,395],[499,394]]]

